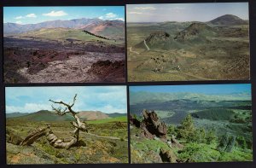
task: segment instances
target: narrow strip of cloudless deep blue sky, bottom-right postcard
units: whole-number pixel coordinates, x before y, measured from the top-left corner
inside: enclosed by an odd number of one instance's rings
[[[201,94],[229,94],[238,92],[251,93],[251,84],[193,84],[193,85],[157,85],[157,86],[131,86],[130,91],[147,92],[190,92]]]

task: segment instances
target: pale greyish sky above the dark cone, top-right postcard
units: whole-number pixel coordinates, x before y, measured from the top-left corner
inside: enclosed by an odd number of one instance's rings
[[[248,20],[248,3],[127,4],[127,22],[209,21],[224,14]]]

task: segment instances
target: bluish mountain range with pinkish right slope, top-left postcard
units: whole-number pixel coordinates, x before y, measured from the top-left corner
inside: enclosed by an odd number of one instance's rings
[[[74,20],[50,20],[37,24],[20,25],[16,23],[4,23],[3,34],[12,35],[24,32],[36,31],[42,28],[72,28],[90,31],[95,34],[108,36],[111,32],[125,34],[125,22],[122,20],[100,19],[74,19]]]

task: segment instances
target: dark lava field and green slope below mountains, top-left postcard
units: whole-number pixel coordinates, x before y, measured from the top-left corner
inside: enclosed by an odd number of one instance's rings
[[[122,24],[102,21],[79,29],[4,34],[4,82],[125,82]]]

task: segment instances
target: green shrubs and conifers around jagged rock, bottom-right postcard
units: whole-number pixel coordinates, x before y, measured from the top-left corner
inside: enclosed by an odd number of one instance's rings
[[[247,106],[247,103],[239,103],[237,106],[241,104]],[[195,113],[200,117],[194,118]],[[247,124],[233,123],[235,118],[245,119]],[[175,154],[178,162],[252,161],[252,130],[247,129],[247,125],[252,124],[251,119],[251,110],[221,107],[215,110],[194,110],[179,125],[167,123],[166,139],[176,137],[183,145],[182,148],[175,144],[169,146],[157,137],[147,139],[140,136],[140,128],[132,126],[131,162],[161,163],[163,159],[160,157],[160,148]]]

